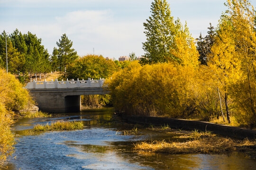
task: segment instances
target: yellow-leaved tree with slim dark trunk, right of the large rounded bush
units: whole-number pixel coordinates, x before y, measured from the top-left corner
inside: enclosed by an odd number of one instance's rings
[[[208,66],[214,75],[213,80],[217,89],[224,92],[226,115],[229,123],[228,86],[236,82],[241,76],[241,64],[236,51],[232,29],[232,23],[226,18],[222,18],[208,62]]]

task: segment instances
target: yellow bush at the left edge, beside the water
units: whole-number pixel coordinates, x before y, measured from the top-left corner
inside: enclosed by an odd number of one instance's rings
[[[12,117],[31,100],[26,89],[11,74],[0,68],[0,164],[13,153],[14,138],[10,131]]]

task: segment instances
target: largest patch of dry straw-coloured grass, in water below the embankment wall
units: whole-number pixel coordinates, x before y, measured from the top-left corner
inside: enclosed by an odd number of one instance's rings
[[[188,137],[189,141],[186,142],[166,142],[153,141],[153,142],[141,142],[135,144],[137,151],[146,151],[153,153],[223,153],[227,151],[243,150],[245,148],[255,148],[256,141],[249,140],[233,140],[214,134],[199,133],[195,131],[190,136],[179,136]],[[252,149],[253,150],[253,149]]]

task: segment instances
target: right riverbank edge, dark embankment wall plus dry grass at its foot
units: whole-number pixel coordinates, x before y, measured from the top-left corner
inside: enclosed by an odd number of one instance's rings
[[[208,122],[149,116],[122,115],[122,119],[126,122],[150,126],[150,129],[159,133],[165,132],[170,136],[169,140],[151,140],[134,144],[134,149],[138,153],[213,154],[237,151],[256,158],[256,138],[254,137],[256,132],[252,130]],[[184,129],[193,131],[185,131]],[[209,129],[217,133],[211,133]],[[241,135],[242,132],[244,132],[243,135]],[[248,136],[251,138],[248,139]]]

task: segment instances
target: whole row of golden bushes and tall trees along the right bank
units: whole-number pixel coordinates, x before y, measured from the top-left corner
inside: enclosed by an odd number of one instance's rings
[[[167,1],[154,0],[144,23],[144,58],[108,82],[115,107],[256,127],[256,12],[249,0],[225,5],[218,26],[210,24],[195,41]]]

